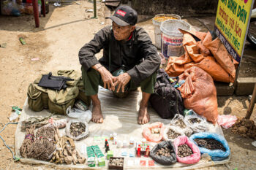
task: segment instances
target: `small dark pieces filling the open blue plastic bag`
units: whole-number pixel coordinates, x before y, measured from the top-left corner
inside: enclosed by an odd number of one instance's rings
[[[222,145],[221,142],[215,140],[215,139],[194,139],[195,142],[197,142],[199,147],[205,147],[208,150],[223,150],[224,152],[225,147]]]

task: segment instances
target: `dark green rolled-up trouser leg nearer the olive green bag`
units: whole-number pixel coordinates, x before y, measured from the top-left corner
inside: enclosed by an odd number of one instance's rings
[[[86,91],[86,96],[92,96],[98,93],[99,85],[103,85],[102,77],[100,76],[99,72],[97,72],[94,69],[88,69],[86,72],[83,69],[83,66],[81,68],[82,70],[82,80],[83,85]]]

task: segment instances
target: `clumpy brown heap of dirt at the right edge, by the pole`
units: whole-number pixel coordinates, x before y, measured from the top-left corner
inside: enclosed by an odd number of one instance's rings
[[[256,140],[256,125],[253,120],[238,117],[238,120],[232,126],[232,132]]]

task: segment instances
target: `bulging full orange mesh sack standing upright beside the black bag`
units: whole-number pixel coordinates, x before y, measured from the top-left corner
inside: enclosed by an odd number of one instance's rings
[[[198,115],[206,117],[211,123],[217,122],[218,104],[214,80],[200,69],[192,66],[179,76],[180,81],[185,80],[178,90],[184,98],[184,106],[193,109]]]

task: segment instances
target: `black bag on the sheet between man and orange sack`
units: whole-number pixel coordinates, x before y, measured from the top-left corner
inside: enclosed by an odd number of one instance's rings
[[[158,115],[163,119],[173,118],[174,115],[183,115],[184,103],[181,93],[174,85],[178,82],[170,82],[170,77],[164,69],[157,71],[157,82],[154,85],[154,93],[151,94],[149,101]]]

